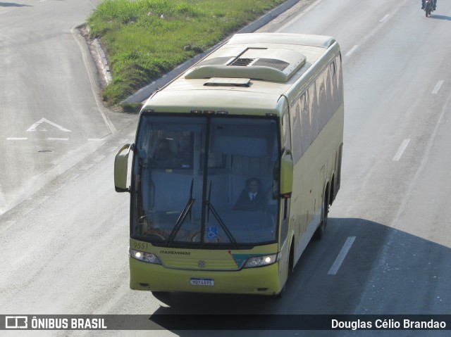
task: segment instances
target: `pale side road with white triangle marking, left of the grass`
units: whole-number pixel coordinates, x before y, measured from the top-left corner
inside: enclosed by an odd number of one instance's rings
[[[0,214],[116,132],[74,29],[92,1],[0,2]],[[121,121],[122,122],[122,121]]]

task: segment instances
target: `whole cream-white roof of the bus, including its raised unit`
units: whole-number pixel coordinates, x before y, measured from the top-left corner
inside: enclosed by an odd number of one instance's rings
[[[280,114],[280,99],[302,76],[338,44],[332,37],[307,34],[235,34],[226,44],[199,61],[163,89],[142,111],[189,113],[192,110],[229,114]],[[332,48],[331,48],[332,47]],[[321,70],[319,69],[319,70]],[[307,77],[307,75],[306,75]]]

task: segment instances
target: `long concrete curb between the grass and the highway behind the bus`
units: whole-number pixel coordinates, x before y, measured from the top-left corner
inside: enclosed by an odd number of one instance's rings
[[[297,4],[300,0],[288,0],[285,1],[285,3],[279,5],[278,7],[274,8],[272,11],[269,11],[265,15],[261,16],[258,20],[254,21],[253,23],[250,23],[246,27],[242,28],[241,30],[238,30],[235,32],[235,34],[244,34],[244,33],[252,33],[258,30],[259,28],[263,27],[264,25],[267,25],[271,20],[276,18],[281,13],[288,10],[288,8],[291,8],[295,4]],[[230,37],[224,39],[222,42],[219,42],[216,44],[216,46],[211,47],[207,51],[204,51],[203,53],[197,54],[197,56],[194,56],[190,61],[187,61],[181,65],[179,65],[177,68],[171,70],[166,75],[163,75],[158,80],[155,80],[154,82],[148,84],[145,87],[142,87],[139,89],[135,94],[132,94],[128,98],[125,98],[124,101],[121,103],[142,103],[143,101],[147,100],[154,91],[160,89],[161,87],[164,87],[169,82],[175,80],[176,77],[180,76],[183,72],[188,70],[192,67],[195,63],[199,62],[202,58],[204,58],[206,55],[211,53],[211,51],[214,51],[218,47],[225,44]],[[103,63],[103,62],[102,62]],[[105,66],[105,65],[104,65]],[[106,65],[108,67],[108,65]]]

